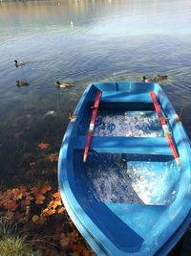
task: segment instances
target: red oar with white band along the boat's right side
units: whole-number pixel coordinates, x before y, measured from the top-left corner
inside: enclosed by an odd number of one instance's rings
[[[149,94],[150,94],[151,99],[153,101],[153,104],[155,106],[156,112],[159,115],[160,124],[161,124],[161,126],[163,128],[163,131],[164,131],[164,134],[165,134],[165,136],[166,136],[166,138],[168,140],[168,143],[169,143],[169,146],[171,148],[171,151],[173,152],[173,155],[175,157],[176,163],[177,163],[178,166],[180,166],[179,153],[178,153],[178,151],[177,151],[177,149],[175,147],[175,144],[173,142],[173,138],[172,138],[171,133],[170,133],[168,127],[167,127],[167,122],[166,122],[165,118],[162,115],[161,108],[160,108],[158,99],[156,97],[156,94],[155,94],[155,92],[150,92]]]

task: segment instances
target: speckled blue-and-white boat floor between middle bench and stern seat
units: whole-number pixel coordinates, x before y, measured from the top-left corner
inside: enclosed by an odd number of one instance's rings
[[[162,137],[156,111],[125,111],[120,114],[99,112],[95,136]]]

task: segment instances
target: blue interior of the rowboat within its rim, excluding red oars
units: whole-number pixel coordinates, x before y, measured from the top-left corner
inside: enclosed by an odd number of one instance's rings
[[[149,96],[156,90],[155,83],[142,82],[142,88],[136,84],[97,83],[79,103],[74,113],[76,135],[70,145],[73,170],[68,172],[74,198],[96,224],[96,233],[106,234],[107,243],[124,252],[149,244],[151,234],[153,238],[162,234],[166,229],[163,213],[180,187],[180,168]],[[92,106],[100,88],[96,125],[84,163]],[[162,112],[168,118],[166,109],[168,105]],[[170,130],[172,125],[168,123]]]

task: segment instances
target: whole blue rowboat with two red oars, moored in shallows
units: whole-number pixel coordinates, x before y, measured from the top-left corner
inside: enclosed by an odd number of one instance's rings
[[[61,198],[97,255],[165,255],[191,221],[190,157],[158,83],[95,82],[63,139]]]

